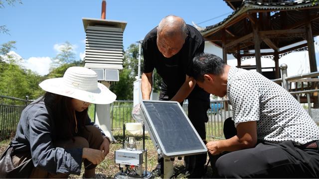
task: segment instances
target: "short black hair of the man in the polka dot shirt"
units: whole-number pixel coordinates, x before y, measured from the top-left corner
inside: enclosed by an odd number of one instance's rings
[[[200,53],[193,58],[193,77],[203,82],[205,74],[220,75],[224,72],[225,62],[216,55]]]

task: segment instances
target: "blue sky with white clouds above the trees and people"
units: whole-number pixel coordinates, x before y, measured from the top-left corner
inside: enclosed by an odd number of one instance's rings
[[[76,59],[83,56],[82,17],[101,18],[102,0],[21,2],[0,8],[0,25],[9,29],[9,35],[0,33],[0,44],[16,41],[14,52],[25,60],[26,68],[46,74],[51,58],[65,41],[73,45]],[[142,40],[166,15],[178,15],[188,24],[194,21],[208,26],[223,20],[231,11],[223,0],[107,0],[106,19],[127,22],[123,35],[126,50],[130,44]]]

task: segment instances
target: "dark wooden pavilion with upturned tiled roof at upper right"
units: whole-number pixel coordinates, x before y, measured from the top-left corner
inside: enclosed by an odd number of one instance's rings
[[[207,41],[237,58],[255,57],[262,72],[261,56],[275,61],[280,78],[279,58],[296,50],[308,50],[310,71],[317,72],[314,37],[319,35],[319,3],[314,0],[224,0],[234,11],[223,21],[197,27]],[[297,43],[297,44],[296,44]],[[284,50],[283,50],[284,49]]]

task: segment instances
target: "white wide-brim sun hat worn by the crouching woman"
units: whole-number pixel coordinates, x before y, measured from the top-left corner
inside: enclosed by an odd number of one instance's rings
[[[97,74],[85,67],[70,67],[62,78],[44,80],[41,89],[93,104],[109,104],[116,94],[98,83]]]

